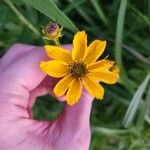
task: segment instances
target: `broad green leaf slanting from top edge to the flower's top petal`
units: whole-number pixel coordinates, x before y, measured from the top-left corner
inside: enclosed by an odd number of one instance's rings
[[[42,14],[46,15],[53,21],[70,29],[73,32],[78,31],[72,21],[56,6],[52,0],[23,0],[26,4],[34,7]]]

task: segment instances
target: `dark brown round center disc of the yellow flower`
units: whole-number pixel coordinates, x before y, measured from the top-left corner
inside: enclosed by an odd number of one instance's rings
[[[69,73],[75,79],[82,78],[88,73],[88,70],[83,63],[72,62],[69,64]]]

